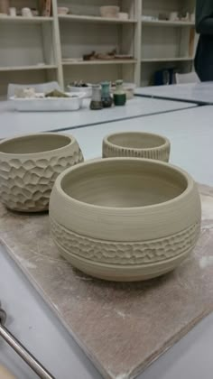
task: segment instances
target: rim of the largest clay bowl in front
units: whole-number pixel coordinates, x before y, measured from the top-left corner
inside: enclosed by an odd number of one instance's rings
[[[153,165],[164,166],[166,168],[169,167],[169,170],[171,169],[173,171],[178,172],[179,174],[182,175],[184,180],[186,180],[186,183],[187,183],[186,189],[184,189],[181,192],[181,194],[176,196],[175,198],[167,200],[167,201],[163,201],[162,203],[155,203],[155,204],[151,204],[151,205],[147,205],[147,206],[139,206],[139,207],[108,207],[108,206],[105,207],[105,206],[101,206],[101,205],[90,204],[90,203],[87,203],[85,201],[72,198],[61,188],[61,181],[64,179],[65,176],[69,175],[69,172],[79,170],[82,166],[85,167],[88,165],[99,164],[100,162],[102,162],[103,164],[106,164],[107,162],[119,162],[119,161],[120,162],[130,162],[130,161],[132,161],[132,162],[150,162]],[[89,160],[87,162],[82,162],[78,165],[72,166],[65,171],[62,171],[60,173],[60,175],[57,177],[57,179],[55,180],[53,189],[55,188],[58,191],[60,197],[63,197],[67,201],[72,201],[75,205],[79,205],[79,206],[83,205],[83,206],[85,206],[91,210],[92,209],[95,210],[95,209],[103,209],[104,208],[105,210],[116,210],[118,212],[123,212],[123,211],[129,211],[129,210],[134,211],[135,209],[142,210],[142,209],[151,209],[151,208],[152,209],[153,208],[162,208],[165,206],[165,204],[166,205],[170,205],[171,203],[175,204],[177,201],[180,201],[182,198],[185,198],[186,196],[188,196],[190,191],[193,189],[194,185],[195,185],[195,181],[192,179],[190,174],[187,171],[184,171],[181,168],[179,168],[178,166],[175,166],[173,164],[170,164],[167,162],[162,162],[162,161],[157,161],[157,160],[152,160],[152,159],[145,159],[145,158],[113,157],[113,158]]]

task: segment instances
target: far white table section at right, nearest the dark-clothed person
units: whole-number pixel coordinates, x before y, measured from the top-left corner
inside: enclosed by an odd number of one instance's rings
[[[213,82],[136,88],[134,92],[145,97],[213,104]]]

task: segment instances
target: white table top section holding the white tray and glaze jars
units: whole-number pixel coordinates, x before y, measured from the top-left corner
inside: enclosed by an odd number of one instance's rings
[[[14,112],[8,110],[8,103],[0,103],[0,138],[14,134],[38,133],[66,130],[69,127],[96,125],[119,119],[169,112],[188,108],[190,104],[151,98],[134,97],[126,106],[115,106],[98,111],[88,108],[84,100],[83,109],[75,112]]]

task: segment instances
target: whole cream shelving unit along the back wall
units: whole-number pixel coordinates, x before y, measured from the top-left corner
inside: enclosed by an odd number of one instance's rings
[[[37,0],[19,0],[35,7]],[[17,6],[16,0],[10,0]],[[195,51],[194,25],[185,21],[143,20],[143,16],[194,12],[195,0],[51,0],[50,17],[0,16],[0,97],[9,82],[72,80],[99,82],[122,78],[148,85],[158,69],[190,70]],[[103,18],[102,5],[118,5],[128,20]],[[59,6],[69,7],[66,15]],[[82,60],[91,51],[133,59]]]

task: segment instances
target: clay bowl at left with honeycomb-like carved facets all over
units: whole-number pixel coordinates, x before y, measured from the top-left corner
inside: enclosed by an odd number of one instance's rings
[[[49,207],[60,172],[83,162],[70,134],[25,134],[0,142],[0,201],[7,208],[38,212]]]

